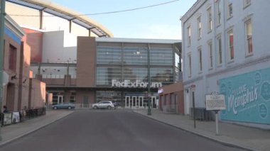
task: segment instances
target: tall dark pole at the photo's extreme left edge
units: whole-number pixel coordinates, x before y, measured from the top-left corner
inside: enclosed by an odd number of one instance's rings
[[[4,26],[5,26],[5,6],[6,0],[1,0],[1,13],[0,13],[0,113],[2,113],[2,102],[3,102],[3,60],[4,60]],[[1,126],[0,126],[1,128]],[[0,140],[1,129],[0,129]]]

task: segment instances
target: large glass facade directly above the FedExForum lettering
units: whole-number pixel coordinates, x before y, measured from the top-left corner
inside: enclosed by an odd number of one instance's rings
[[[173,48],[151,47],[149,50],[151,82],[173,83]],[[112,86],[112,79],[148,82],[147,51],[148,47],[97,46],[97,86]],[[178,62],[179,59],[175,61]]]

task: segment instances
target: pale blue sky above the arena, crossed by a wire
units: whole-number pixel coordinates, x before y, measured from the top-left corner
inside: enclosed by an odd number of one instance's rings
[[[82,14],[136,9],[173,0],[47,0]],[[181,39],[181,22],[197,0],[178,0],[135,11],[89,15],[115,38]]]

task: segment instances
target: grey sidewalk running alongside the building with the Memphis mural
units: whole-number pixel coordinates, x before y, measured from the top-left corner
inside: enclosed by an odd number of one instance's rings
[[[147,116],[147,110],[136,110],[134,112]],[[242,147],[246,150],[270,150],[270,130],[219,122],[219,135],[216,135],[215,121],[196,121],[196,128],[194,128],[194,121],[189,116],[166,114],[162,111],[152,110],[151,116],[147,117],[225,145]]]

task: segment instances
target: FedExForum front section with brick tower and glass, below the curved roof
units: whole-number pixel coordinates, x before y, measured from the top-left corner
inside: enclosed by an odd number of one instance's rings
[[[47,91],[53,93],[54,103],[112,100],[126,107],[144,108],[150,96],[155,108],[158,87],[178,80],[179,40],[78,37],[75,48],[76,63],[49,61],[32,65],[36,77],[43,77]],[[58,60],[62,53],[43,57]]]

